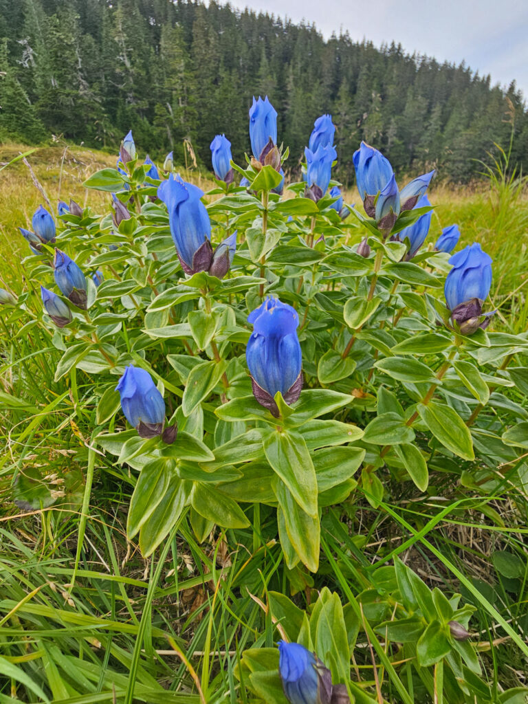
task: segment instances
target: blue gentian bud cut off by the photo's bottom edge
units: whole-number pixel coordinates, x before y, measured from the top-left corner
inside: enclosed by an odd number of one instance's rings
[[[330,704],[332,675],[300,643],[279,641],[279,675],[290,704]]]

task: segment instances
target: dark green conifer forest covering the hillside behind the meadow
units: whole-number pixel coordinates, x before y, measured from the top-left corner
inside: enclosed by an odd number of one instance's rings
[[[285,165],[298,168],[322,113],[337,126],[336,175],[353,180],[361,139],[408,174],[437,168],[465,182],[515,124],[513,163],[528,170],[528,113],[466,65],[381,49],[346,33],[211,1],[0,0],[0,141],[63,135],[113,148],[130,128],[139,149],[184,161],[184,142],[210,167],[218,132],[241,161],[248,109],[265,95],[278,112]]]

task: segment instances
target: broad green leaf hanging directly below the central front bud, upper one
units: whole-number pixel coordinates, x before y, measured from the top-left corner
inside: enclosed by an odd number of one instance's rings
[[[264,452],[276,474],[303,512],[318,516],[318,484],[312,458],[303,436],[295,432],[272,432],[264,439]]]

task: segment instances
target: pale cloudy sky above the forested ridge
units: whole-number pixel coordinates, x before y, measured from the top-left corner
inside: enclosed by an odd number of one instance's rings
[[[222,0],[221,0],[222,1]],[[528,0],[230,0],[295,23],[305,20],[328,38],[347,31],[379,46],[394,40],[412,54],[465,61],[492,84],[516,80],[528,98]]]

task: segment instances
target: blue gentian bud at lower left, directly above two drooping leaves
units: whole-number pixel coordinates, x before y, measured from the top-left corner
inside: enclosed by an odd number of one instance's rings
[[[145,438],[161,435],[165,422],[165,401],[151,375],[144,369],[125,367],[115,387],[121,396],[121,408],[127,421]]]

